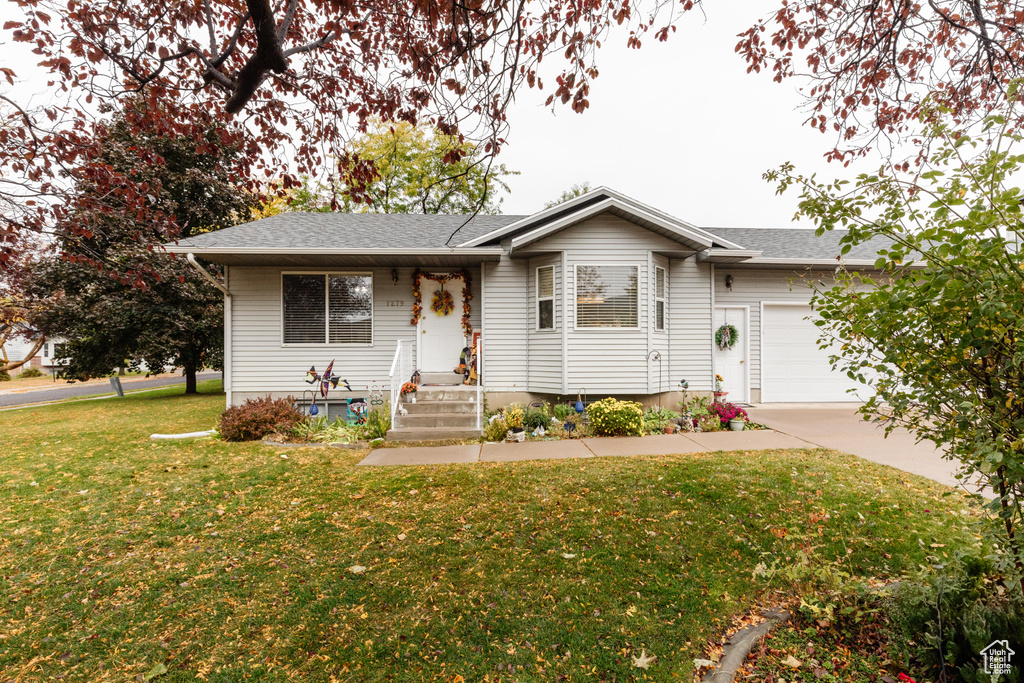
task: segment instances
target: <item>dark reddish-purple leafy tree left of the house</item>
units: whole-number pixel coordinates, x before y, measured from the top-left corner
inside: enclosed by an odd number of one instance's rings
[[[170,115],[136,100],[103,126],[102,144],[75,177],[75,229],[59,226],[59,253],[34,268],[32,292],[47,300],[36,324],[67,340],[60,358],[70,379],[145,362],[157,372],[181,368],[195,392],[196,373],[222,364],[222,295],[159,245],[248,215],[251,196],[233,171],[242,151],[212,119],[181,134]],[[97,165],[145,196],[127,202],[95,182],[88,169]]]

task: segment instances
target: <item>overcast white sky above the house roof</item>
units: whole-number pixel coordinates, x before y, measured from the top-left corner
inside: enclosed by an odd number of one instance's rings
[[[6,4],[0,3],[0,20],[12,15]],[[545,79],[544,91],[520,91],[499,158],[520,175],[507,179],[511,193],[503,211],[532,213],[589,181],[705,227],[793,225],[797,196],[776,197],[761,177],[766,170],[792,161],[799,171],[827,179],[854,171],[824,162],[835,134],[803,125],[798,83],[746,74],[733,51],[736,35],[773,7],[763,0],[709,0],[707,18],[689,12],[667,43],[648,37],[640,50],[627,49],[625,35],[611,36],[598,55],[600,77],[584,115],[544,106],[553,78]],[[33,93],[41,103],[45,81],[28,78],[33,56],[0,34],[0,63],[27,77],[15,89],[18,98]],[[873,170],[879,161],[858,167]]]

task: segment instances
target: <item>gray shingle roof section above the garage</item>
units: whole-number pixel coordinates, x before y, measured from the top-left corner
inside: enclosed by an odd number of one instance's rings
[[[709,227],[705,228],[744,249],[761,250],[761,258],[793,258],[831,260],[839,256],[840,239],[845,230],[829,230],[821,237],[814,228],[800,227]],[[844,257],[846,260],[878,258],[878,249],[888,247],[888,240],[878,238],[868,244],[854,247]]]

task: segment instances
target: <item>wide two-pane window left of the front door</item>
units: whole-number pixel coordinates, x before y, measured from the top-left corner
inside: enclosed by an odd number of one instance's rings
[[[372,344],[374,282],[369,273],[285,273],[286,344]]]

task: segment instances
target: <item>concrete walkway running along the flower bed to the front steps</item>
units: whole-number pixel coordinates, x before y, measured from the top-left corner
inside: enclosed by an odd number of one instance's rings
[[[771,430],[655,434],[523,443],[409,446],[376,449],[359,465],[441,465],[446,463],[509,463],[522,460],[563,460],[595,456],[665,456],[674,453],[806,449],[804,441]]]

